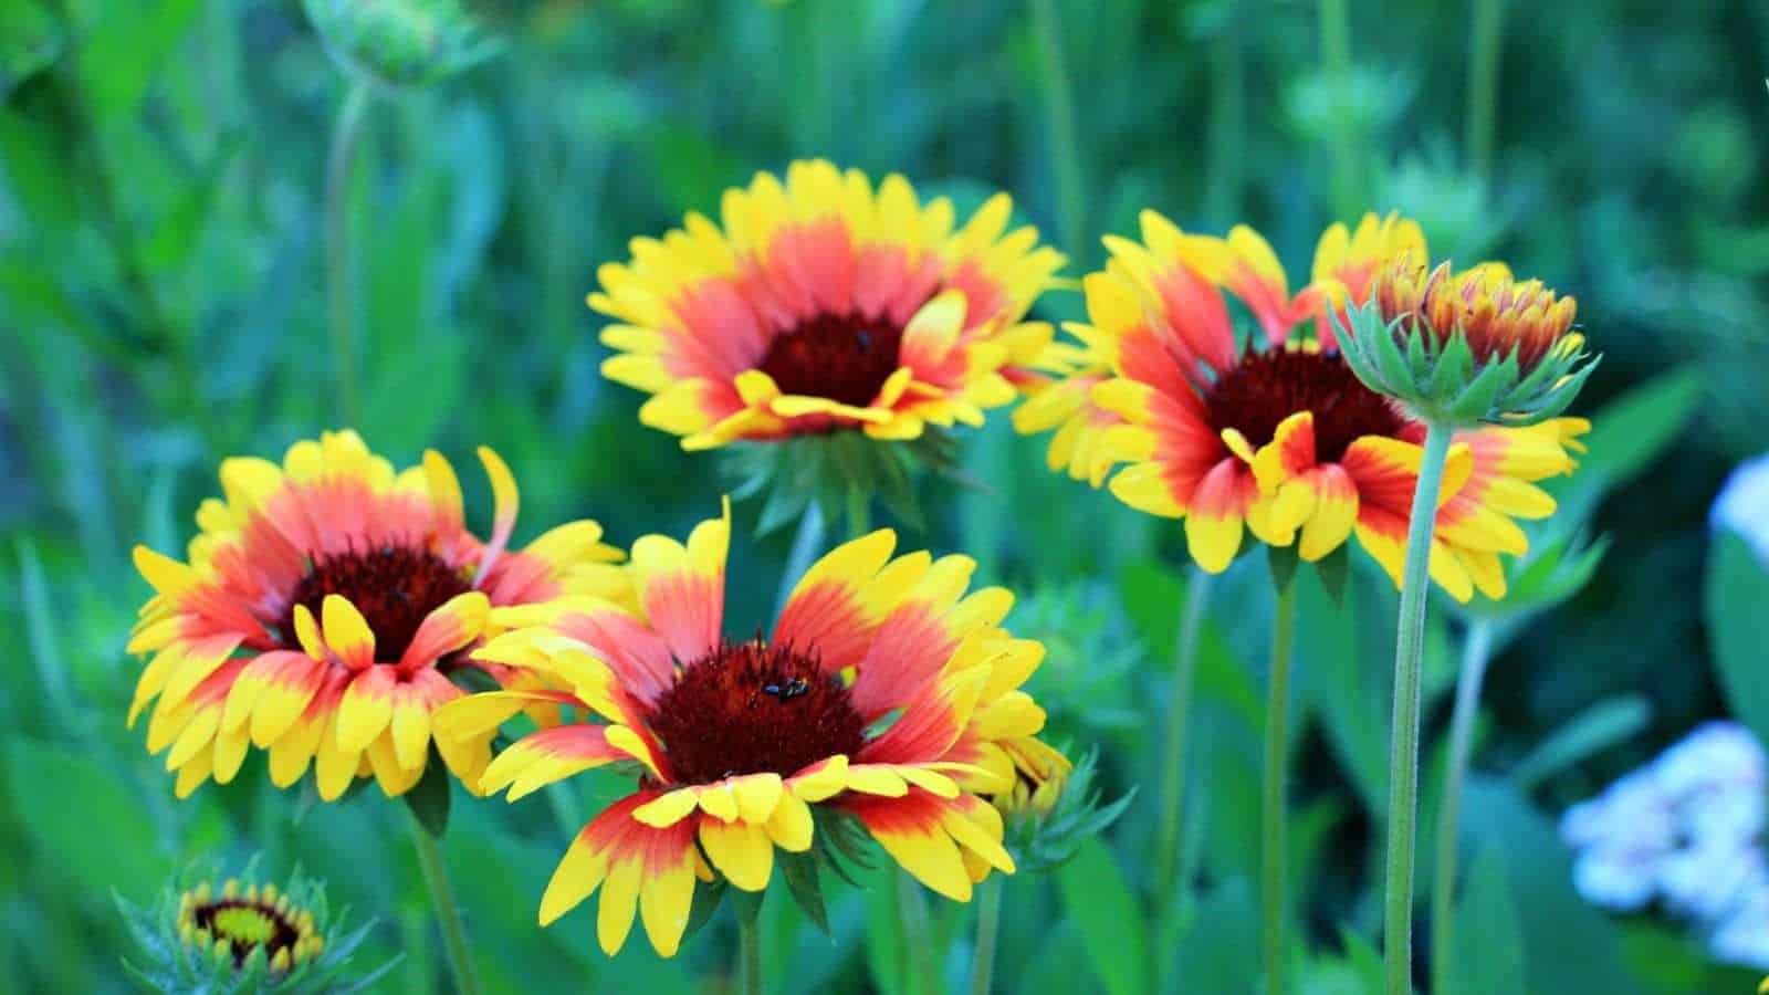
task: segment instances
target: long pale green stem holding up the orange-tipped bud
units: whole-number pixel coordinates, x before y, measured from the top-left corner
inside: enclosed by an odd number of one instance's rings
[[[1419,818],[1419,671],[1424,657],[1431,535],[1449,457],[1451,427],[1426,423],[1419,485],[1406,528],[1406,568],[1394,637],[1394,731],[1389,745],[1389,859],[1385,875],[1383,954],[1389,995],[1412,995],[1413,977],[1413,830]]]

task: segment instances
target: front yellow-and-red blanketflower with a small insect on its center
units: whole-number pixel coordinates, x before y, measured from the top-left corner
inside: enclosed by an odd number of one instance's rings
[[[1019,690],[1044,646],[1001,629],[1012,595],[966,595],[971,559],[893,558],[881,529],[812,565],[770,637],[731,641],[729,538],[729,510],[686,544],[644,536],[637,611],[559,598],[479,650],[571,690],[474,694],[437,715],[439,735],[476,740],[534,705],[578,710],[580,722],[529,733],[486,768],[481,788],[511,800],[610,763],[637,777],[571,843],[541,924],[600,889],[603,951],[626,942],[637,906],[672,956],[695,878],[762,891],[777,848],[812,852],[814,811],[858,820],[959,901],[991,869],[1012,873],[985,795],[1012,790],[1017,758],[1044,760],[1028,745],[1044,710]]]

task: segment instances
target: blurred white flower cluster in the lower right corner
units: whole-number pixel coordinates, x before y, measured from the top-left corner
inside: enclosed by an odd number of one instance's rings
[[[1700,726],[1566,811],[1573,885],[1613,912],[1658,901],[1693,921],[1718,960],[1769,970],[1765,784],[1769,761],[1750,729]]]

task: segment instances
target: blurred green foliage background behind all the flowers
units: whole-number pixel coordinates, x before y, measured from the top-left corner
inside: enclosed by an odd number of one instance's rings
[[[386,2],[386,0],[382,0]],[[379,4],[377,4],[379,5]],[[370,4],[364,2],[364,7]],[[1769,418],[1769,5],[1750,0],[515,0],[474,5],[502,51],[368,110],[345,204],[359,303],[359,428],[396,462],[495,446],[522,485],[518,540],[594,517],[621,545],[718,506],[685,455],[600,379],[594,267],[757,168],[828,156],[900,170],[961,209],[994,189],[1070,253],[1157,207],[1187,228],[1258,225],[1297,285],[1318,232],[1366,209],[1421,220],[1440,255],[1502,257],[1580,297],[1606,354],[1569,515],[1603,570],[1514,629],[1493,662],[1465,806],[1477,977],[1467,991],[1744,991],[1693,940],[1571,891],[1553,818],[1723,710],[1700,598],[1707,505]],[[195,857],[272,876],[301,862],[375,917],[389,991],[448,988],[403,832],[375,791],[295,816],[248,761],[175,802],[122,726],[149,588],[136,542],[180,549],[230,453],[276,457],[333,425],[324,163],[345,83],[295,0],[0,4],[0,984],[124,988],[111,892],[145,903]],[[1054,292],[1037,312],[1079,315]],[[907,542],[964,551],[1051,643],[1035,689],[1056,738],[1141,786],[1104,845],[1010,882],[998,986],[1252,990],[1265,567],[1212,591],[1192,722],[1183,887],[1155,903],[1173,630],[1189,575],[1169,522],[1044,469],[1003,416],[971,434],[989,494],[927,483]],[[490,496],[463,471],[469,508]],[[787,536],[738,508],[732,630],[768,611]],[[1367,567],[1367,563],[1362,563]],[[1378,910],[1392,588],[1337,613],[1306,581],[1293,894],[1304,991],[1364,991]],[[1447,605],[1440,605],[1447,607]],[[1428,763],[1459,623],[1436,613]],[[1596,719],[1592,719],[1596,715]],[[1548,747],[1544,747],[1548,744]],[[1546,751],[1546,752],[1544,752]],[[1518,770],[1527,775],[1518,775]],[[1433,774],[1428,770],[1428,809]],[[593,915],[534,928],[573,816],[612,797],[508,807],[456,791],[444,852],[492,990],[716,991],[720,917],[660,963],[607,961]],[[570,811],[580,806],[580,813]],[[1429,880],[1429,848],[1422,848]],[[881,905],[883,903],[883,905]],[[770,896],[770,984],[906,990],[888,889],[833,908],[837,942]],[[950,986],[971,910],[936,905]]]

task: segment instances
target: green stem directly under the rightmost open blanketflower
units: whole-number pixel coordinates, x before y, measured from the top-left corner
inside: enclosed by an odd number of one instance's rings
[[[1284,584],[1272,614],[1272,675],[1265,698],[1265,797],[1260,825],[1260,947],[1265,956],[1265,995],[1286,995],[1288,940],[1284,937],[1284,857],[1286,839],[1284,767],[1290,756],[1290,648],[1295,643],[1295,584]]]

